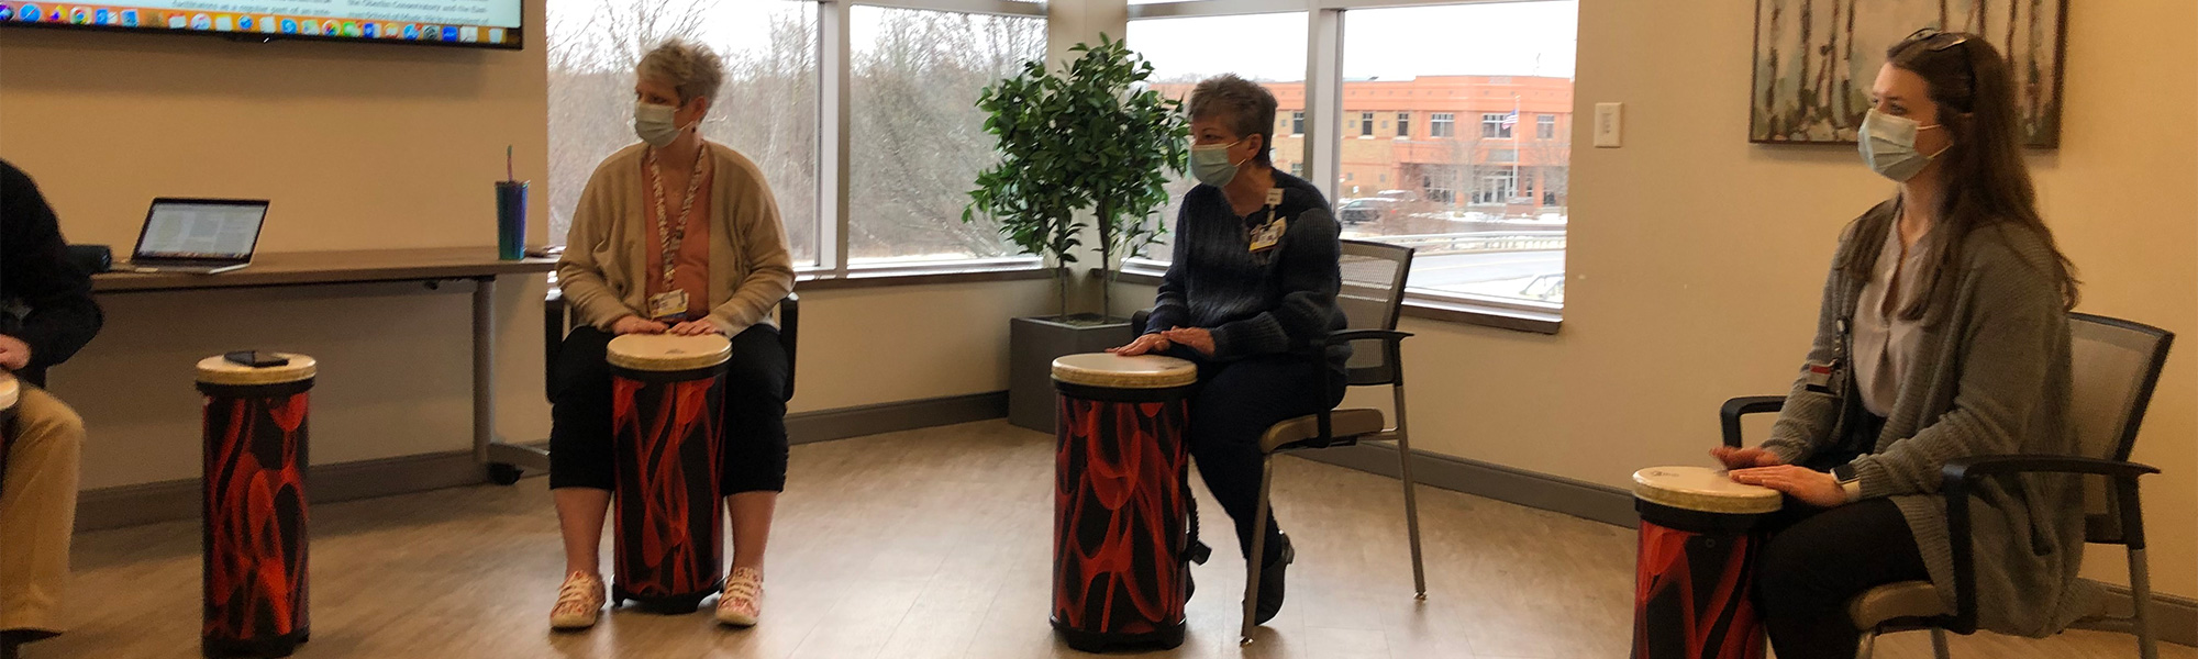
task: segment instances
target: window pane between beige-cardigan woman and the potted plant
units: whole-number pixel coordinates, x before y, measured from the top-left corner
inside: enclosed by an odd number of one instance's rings
[[[851,18],[848,264],[1013,255],[996,224],[961,220],[976,174],[998,163],[976,99],[1046,55],[1046,22],[886,7]]]

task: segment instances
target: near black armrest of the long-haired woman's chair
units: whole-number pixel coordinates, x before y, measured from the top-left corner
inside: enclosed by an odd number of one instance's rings
[[[2123,540],[2130,549],[2145,549],[2143,510],[2136,501],[2136,477],[2156,474],[2158,468],[2071,455],[1980,455],[1961,457],[1939,470],[1939,494],[1945,496],[1945,529],[1954,545],[1954,633],[1976,633],[1976,547],[1969,536],[1969,492],[1976,483],[1998,474],[2055,472],[2097,474],[2117,481],[2114,499],[2125,525]]]

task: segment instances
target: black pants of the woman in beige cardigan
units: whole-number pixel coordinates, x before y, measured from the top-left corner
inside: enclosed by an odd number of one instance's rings
[[[611,334],[571,330],[550,371],[550,488],[618,490],[611,450]],[[778,327],[732,338],[725,362],[721,494],[787,488],[787,349]]]

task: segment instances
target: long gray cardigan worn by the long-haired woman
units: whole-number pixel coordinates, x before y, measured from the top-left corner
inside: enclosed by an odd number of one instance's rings
[[[1864,281],[1846,277],[1849,250],[1877,250],[1897,220],[1886,202],[1855,220],[1840,239],[1824,283],[1811,362],[1844,340],[1838,321],[1851,316]],[[1932,584],[1954,606],[1954,549],[1947,540],[1939,470],[1972,455],[2079,455],[2068,411],[2068,314],[2053,281],[2053,250],[2027,228],[1976,228],[1963,242],[1961,272],[1941,277],[1939,308],[1899,384],[1899,400],[1868,455],[1853,461],[1862,496],[1899,505]],[[1807,389],[1807,369],[1787,395],[1785,413],[1763,446],[1789,463],[1838,444],[1844,420],[1862,404]],[[1969,503],[1976,540],[1978,626],[2027,637],[2062,630],[2090,611],[2097,589],[2077,580],[2084,558],[2079,481],[2022,474],[1985,483]],[[1855,547],[1868,551],[1868,547]]]

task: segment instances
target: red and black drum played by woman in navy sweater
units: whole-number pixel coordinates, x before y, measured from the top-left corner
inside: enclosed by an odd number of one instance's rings
[[[1053,628],[1070,648],[1183,644],[1196,384],[1198,367],[1167,356],[1053,360]]]

